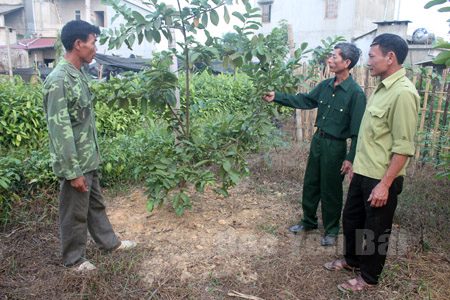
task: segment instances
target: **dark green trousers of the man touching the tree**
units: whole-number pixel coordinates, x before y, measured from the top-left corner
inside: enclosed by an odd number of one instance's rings
[[[317,207],[322,201],[322,222],[327,235],[337,235],[342,211],[341,167],[347,153],[347,142],[322,138],[317,133],[303,181],[303,219],[307,229],[317,228]]]

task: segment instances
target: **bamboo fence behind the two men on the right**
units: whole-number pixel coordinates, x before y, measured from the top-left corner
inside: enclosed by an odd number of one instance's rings
[[[432,68],[426,69],[425,74],[420,70],[407,71],[407,76],[416,86],[421,98],[415,159],[439,159],[441,153],[447,153],[450,149],[450,69],[444,70],[441,75],[433,73]],[[305,73],[306,65],[299,68],[297,72]],[[328,70],[323,71],[321,69],[318,69],[316,74],[319,80],[308,82],[311,88],[318,82],[333,76]],[[369,69],[363,66],[355,66],[352,69],[352,75],[369,99],[376,86],[376,79],[370,76]],[[308,92],[308,90],[300,87],[299,92]],[[316,116],[317,109],[296,110],[296,137],[299,141],[311,140],[316,129],[314,127]]]

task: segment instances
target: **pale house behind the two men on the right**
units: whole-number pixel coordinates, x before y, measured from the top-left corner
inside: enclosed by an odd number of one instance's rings
[[[367,61],[371,41],[381,33],[394,33],[409,43],[406,63],[414,65],[432,60],[440,50],[431,43],[414,41],[407,35],[410,21],[395,20],[401,0],[254,0],[261,8],[262,28],[267,34],[282,19],[292,25],[297,47],[307,42],[310,48],[321,46],[321,40],[341,35],[361,49],[362,63]],[[407,3],[402,3],[407,5]]]

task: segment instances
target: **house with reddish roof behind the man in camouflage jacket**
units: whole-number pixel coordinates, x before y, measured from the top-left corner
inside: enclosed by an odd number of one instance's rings
[[[143,15],[151,12],[142,1],[122,2]],[[85,20],[98,25],[101,30],[114,29],[124,23],[121,17],[112,23],[114,15],[115,11],[101,4],[101,0],[0,0],[0,71],[8,69],[8,43],[14,68],[52,66],[56,58],[53,45],[64,24]],[[144,41],[133,50],[125,44],[119,49],[108,50],[108,45],[98,45],[98,48],[102,54],[149,58],[156,46],[154,42]]]

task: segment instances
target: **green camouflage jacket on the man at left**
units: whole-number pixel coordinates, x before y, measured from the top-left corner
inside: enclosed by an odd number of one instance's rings
[[[72,180],[98,168],[94,108],[89,77],[62,59],[44,82],[44,110],[53,172]]]

